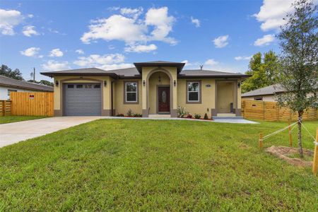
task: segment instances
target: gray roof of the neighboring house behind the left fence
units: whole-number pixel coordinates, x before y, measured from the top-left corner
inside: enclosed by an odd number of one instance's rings
[[[6,76],[0,75],[0,86],[6,86],[10,88],[23,88],[28,90],[38,90],[38,91],[53,91],[52,86],[44,86],[35,83],[29,83],[25,81],[18,81],[13,78],[8,78]]]

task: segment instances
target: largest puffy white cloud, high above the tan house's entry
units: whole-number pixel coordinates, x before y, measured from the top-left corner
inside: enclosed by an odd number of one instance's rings
[[[125,42],[128,49],[139,45],[146,46],[147,42],[154,40],[171,45],[177,43],[173,37],[168,37],[175,18],[168,16],[167,7],[150,8],[144,19],[139,18],[143,8],[121,8],[119,11],[121,14],[92,20],[88,26],[89,31],[83,34],[81,41],[88,44],[99,39],[120,40]]]

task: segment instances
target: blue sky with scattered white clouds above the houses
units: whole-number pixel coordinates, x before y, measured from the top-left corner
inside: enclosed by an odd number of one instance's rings
[[[290,1],[1,1],[0,61],[26,79],[33,67],[155,60],[243,73],[252,54],[278,52],[274,35]]]

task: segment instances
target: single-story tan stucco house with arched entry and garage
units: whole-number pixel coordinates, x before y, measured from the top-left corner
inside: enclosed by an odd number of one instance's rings
[[[41,73],[54,77],[56,116],[126,114],[148,117],[177,108],[190,114],[240,116],[240,84],[248,76],[206,70],[183,70],[184,63],[151,61],[134,68],[104,71],[73,69]]]

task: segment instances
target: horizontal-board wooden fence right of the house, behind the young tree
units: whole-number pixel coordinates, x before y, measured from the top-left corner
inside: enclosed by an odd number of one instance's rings
[[[298,114],[288,107],[280,107],[276,102],[242,100],[242,116],[247,119],[265,121],[298,120]],[[317,109],[310,108],[302,115],[303,120],[318,119]]]

